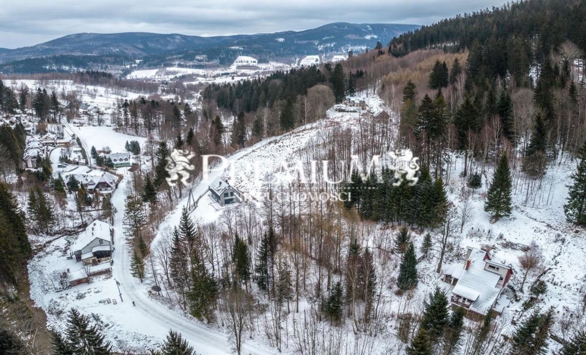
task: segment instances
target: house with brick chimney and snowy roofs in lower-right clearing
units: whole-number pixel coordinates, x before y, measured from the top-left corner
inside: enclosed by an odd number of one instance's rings
[[[511,289],[506,288],[513,269],[490,259],[488,252],[468,247],[464,264],[455,264],[444,271],[442,280],[452,285],[452,306],[465,308],[468,316],[494,315],[503,311]]]

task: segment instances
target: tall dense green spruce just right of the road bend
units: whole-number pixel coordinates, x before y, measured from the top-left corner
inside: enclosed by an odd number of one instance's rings
[[[217,297],[216,280],[210,275],[203,263],[199,252],[191,253],[191,289],[189,290],[189,309],[192,316],[197,319],[211,319],[210,309]]]

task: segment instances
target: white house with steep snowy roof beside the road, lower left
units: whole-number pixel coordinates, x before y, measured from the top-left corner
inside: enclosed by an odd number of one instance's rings
[[[94,220],[71,246],[76,261],[84,264],[99,264],[112,259],[112,233],[110,225]]]

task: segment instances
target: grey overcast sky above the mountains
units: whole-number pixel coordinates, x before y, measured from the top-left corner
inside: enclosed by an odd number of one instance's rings
[[[79,32],[216,36],[304,30],[331,22],[429,25],[505,0],[0,0],[0,47]],[[124,5],[121,5],[124,4]]]

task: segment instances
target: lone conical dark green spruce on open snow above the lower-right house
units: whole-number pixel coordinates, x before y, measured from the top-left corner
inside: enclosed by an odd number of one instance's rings
[[[496,168],[495,177],[492,179],[486,194],[484,211],[490,213],[495,220],[503,216],[509,216],[511,214],[511,190],[512,180],[509,160],[507,159],[507,154],[503,153],[502,157],[500,157],[499,166]]]

